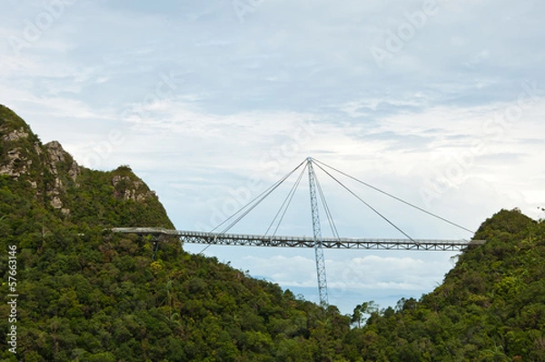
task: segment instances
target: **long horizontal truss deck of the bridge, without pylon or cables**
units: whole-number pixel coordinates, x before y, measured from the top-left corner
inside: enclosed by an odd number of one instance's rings
[[[203,233],[184,230],[169,230],[158,227],[114,227],[116,233],[140,236],[177,236],[183,243],[212,244],[220,246],[282,246],[314,247],[309,236],[256,236],[243,234]],[[485,240],[435,240],[435,239],[371,239],[352,237],[324,237],[322,246],[346,249],[399,249],[399,250],[461,250],[466,246],[480,246]]]

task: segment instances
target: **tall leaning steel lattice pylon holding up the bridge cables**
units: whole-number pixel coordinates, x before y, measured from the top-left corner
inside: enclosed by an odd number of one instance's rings
[[[316,256],[316,276],[318,277],[318,293],[320,294],[320,305],[329,305],[327,297],[327,279],[325,277],[325,259],[322,248],[322,226],[320,226],[320,213],[318,211],[318,198],[316,196],[316,174],[312,166],[312,157],[307,158],[309,168],[309,188],[311,190],[312,210],[312,232],[314,236],[314,254]]]

